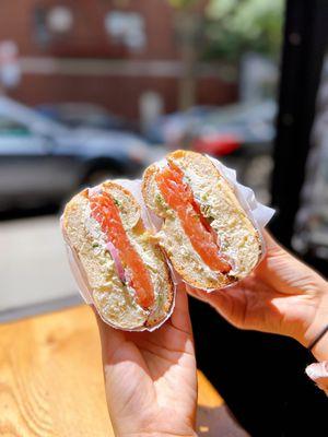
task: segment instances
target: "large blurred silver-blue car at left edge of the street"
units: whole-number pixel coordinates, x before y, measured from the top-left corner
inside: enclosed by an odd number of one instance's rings
[[[83,185],[136,176],[157,150],[139,137],[70,129],[0,96],[0,208],[61,202]]]

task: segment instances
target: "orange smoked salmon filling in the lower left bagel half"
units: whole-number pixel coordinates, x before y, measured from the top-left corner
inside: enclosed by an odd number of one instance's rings
[[[136,291],[137,303],[144,309],[150,308],[154,304],[150,273],[127,236],[117,205],[105,191],[91,194],[89,199],[91,215],[99,223],[108,241],[118,251],[122,267],[128,273],[128,284]]]

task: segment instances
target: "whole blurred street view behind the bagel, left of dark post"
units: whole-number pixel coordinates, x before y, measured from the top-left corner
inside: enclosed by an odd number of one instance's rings
[[[0,315],[74,298],[58,214],[84,185],[185,147],[270,202],[282,20],[282,0],[1,3]]]

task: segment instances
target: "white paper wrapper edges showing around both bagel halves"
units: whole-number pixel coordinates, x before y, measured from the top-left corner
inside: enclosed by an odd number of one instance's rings
[[[261,258],[265,256],[266,252],[266,247],[265,247],[265,239],[262,237],[262,229],[267,225],[267,223],[270,221],[272,215],[274,214],[274,210],[261,204],[256,200],[254,191],[248,188],[243,186],[237,181],[236,178],[236,172],[232,168],[226,167],[225,165],[221,164],[219,161],[208,156],[215,167],[219,169],[220,174],[230,182],[230,185],[234,188],[235,194],[244,208],[245,212],[247,213],[247,216],[254,224],[255,228],[258,231],[259,237],[261,239]],[[121,185],[124,188],[129,190],[137,202],[140,205],[141,209],[141,220],[144,224],[144,227],[149,231],[159,231],[162,224],[162,220],[154,215],[151,211],[149,211],[143,202],[142,193],[141,193],[141,180],[136,179],[136,180],[128,180],[128,179],[116,179],[115,180],[117,184]],[[62,223],[62,220],[61,220]],[[65,233],[63,227],[61,226],[65,244],[66,244],[66,249],[68,253],[68,259],[69,259],[69,264],[72,271],[72,274],[75,279],[78,290],[87,305],[94,305],[93,297],[92,297],[92,290],[90,288],[90,285],[87,283],[87,277],[86,274],[83,271],[83,267],[81,264],[81,261],[79,260],[78,253],[75,250],[69,245],[68,237]],[[261,259],[260,258],[260,259]],[[259,260],[260,261],[260,260]],[[169,267],[171,273],[172,273],[172,281],[174,284],[174,296],[176,293],[176,287],[177,285],[183,281],[180,276],[174,271],[173,267],[171,265],[171,262],[167,260],[167,264]],[[227,287],[231,285],[227,285]],[[207,290],[207,292],[212,292],[214,290]],[[153,326],[151,328],[147,327],[141,327],[134,330],[130,331],[154,331],[155,329],[159,329],[172,315],[174,310],[174,302],[175,298],[173,298],[172,307],[169,312],[166,315],[166,317],[161,320],[161,322],[156,326]],[[94,306],[95,307],[95,306]],[[99,312],[98,312],[99,314]],[[101,314],[99,314],[101,316]],[[101,316],[102,317],[102,316]],[[102,317],[104,320],[104,318]],[[104,320],[107,324],[110,324],[113,328],[118,329],[117,327],[113,326],[109,323],[107,320]]]

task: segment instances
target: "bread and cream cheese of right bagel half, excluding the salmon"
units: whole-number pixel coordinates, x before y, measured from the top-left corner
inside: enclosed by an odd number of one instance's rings
[[[176,151],[167,158],[184,172],[184,181],[218,235],[220,252],[232,265],[229,273],[214,272],[196,252],[177,213],[167,205],[156,185],[156,174],[166,165],[160,162],[145,169],[142,194],[147,206],[163,218],[156,237],[175,270],[188,284],[202,290],[222,288],[247,276],[260,258],[261,243],[233,187],[204,155]]]

